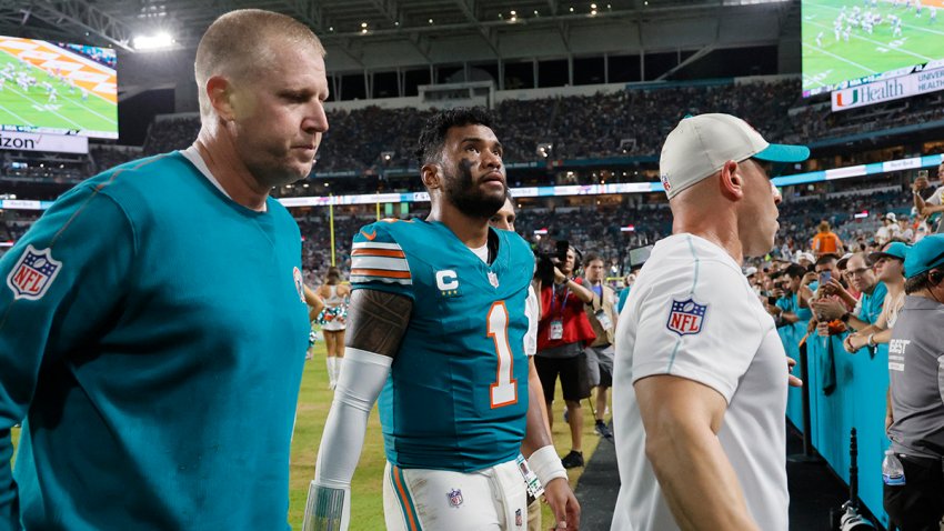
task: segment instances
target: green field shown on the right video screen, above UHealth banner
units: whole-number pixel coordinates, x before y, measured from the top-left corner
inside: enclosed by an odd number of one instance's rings
[[[881,14],[882,22],[872,33],[852,26],[848,41],[843,32],[837,40],[833,23],[843,7],[846,13],[855,7],[867,9]],[[803,90],[944,58],[944,19],[932,20],[932,7],[944,10],[944,0],[924,0],[921,17],[912,0],[907,7],[905,0],[897,7],[888,0],[880,0],[875,7],[863,0],[803,0]],[[891,14],[902,20],[901,36],[893,36]],[[843,28],[846,26],[851,24],[844,22]]]

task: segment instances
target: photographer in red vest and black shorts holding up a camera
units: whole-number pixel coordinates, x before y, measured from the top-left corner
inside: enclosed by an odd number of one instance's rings
[[[573,278],[580,269],[579,253],[566,241],[559,241],[555,254],[539,253],[538,257],[542,288],[534,364],[544,388],[551,428],[554,424],[554,415],[550,413],[554,387],[558,377],[561,378],[571,428],[571,451],[561,460],[568,469],[584,464],[580,401],[590,397],[590,381],[583,349],[596,338],[584,311],[584,304],[593,301],[593,292],[581,285],[581,279]]]

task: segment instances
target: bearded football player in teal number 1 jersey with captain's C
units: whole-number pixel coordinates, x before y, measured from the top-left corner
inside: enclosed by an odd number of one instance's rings
[[[534,257],[514,232],[489,228],[508,190],[489,116],[434,116],[418,157],[430,216],[379,221],[354,237],[345,370],[304,529],[348,529],[351,477],[378,397],[386,529],[524,529],[529,465],[556,524],[576,529],[580,509],[540,394],[529,395]]]

